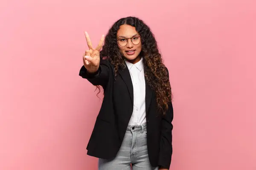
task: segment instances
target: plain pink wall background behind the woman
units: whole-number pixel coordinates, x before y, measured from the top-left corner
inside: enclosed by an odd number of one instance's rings
[[[0,170],[96,170],[100,108],[79,77],[120,17],[156,35],[174,93],[171,170],[256,170],[255,0],[0,2]]]

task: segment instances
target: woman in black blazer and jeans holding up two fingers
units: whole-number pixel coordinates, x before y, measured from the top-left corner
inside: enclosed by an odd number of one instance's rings
[[[89,50],[79,75],[104,90],[87,154],[99,158],[99,170],[169,170],[172,92],[150,28],[126,17],[96,48],[85,37]]]

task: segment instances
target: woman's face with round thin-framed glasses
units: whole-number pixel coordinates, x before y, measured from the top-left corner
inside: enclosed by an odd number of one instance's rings
[[[141,37],[135,27],[126,24],[120,26],[116,38],[123,57],[132,63],[140,61]]]

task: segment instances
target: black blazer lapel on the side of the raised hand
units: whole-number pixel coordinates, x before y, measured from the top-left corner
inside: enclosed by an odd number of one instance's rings
[[[130,75],[127,65],[126,65],[125,69],[119,70],[118,72],[128,88],[128,91],[129,91],[129,94],[131,97],[131,103],[133,105],[133,103],[134,103],[133,85],[132,85],[131,75]]]

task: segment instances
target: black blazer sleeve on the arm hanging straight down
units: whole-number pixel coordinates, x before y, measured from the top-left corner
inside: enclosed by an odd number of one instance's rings
[[[168,70],[167,70],[168,73]],[[168,73],[169,76],[169,73]],[[173,120],[173,106],[172,102],[166,114],[162,117],[161,135],[160,135],[160,153],[158,159],[159,167],[169,169],[172,160],[172,120]]]

